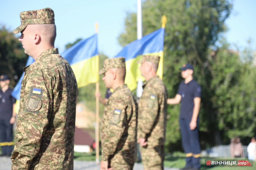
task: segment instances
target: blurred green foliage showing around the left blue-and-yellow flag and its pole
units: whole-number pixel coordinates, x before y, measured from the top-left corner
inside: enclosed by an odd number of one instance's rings
[[[66,49],[70,48],[72,45],[75,45],[80,40],[82,40],[82,38],[78,38],[73,43],[68,43],[67,45],[65,45]],[[99,69],[103,67],[103,62],[107,58],[108,57],[105,54],[99,53]],[[105,87],[105,83],[103,82],[102,77],[103,77],[102,75],[99,76],[99,92],[102,94],[102,98],[105,98],[105,93],[107,88]],[[93,112],[96,112],[95,92],[96,92],[95,83],[89,84],[87,86],[84,86],[78,89],[78,102],[83,102],[84,105],[86,105],[86,107]],[[99,105],[100,115],[103,114],[103,111],[104,111],[104,105],[100,104]]]

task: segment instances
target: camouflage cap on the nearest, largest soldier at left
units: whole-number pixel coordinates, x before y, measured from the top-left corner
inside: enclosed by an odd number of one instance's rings
[[[22,31],[30,24],[55,24],[54,12],[51,8],[20,12],[21,25],[13,30],[14,34]]]

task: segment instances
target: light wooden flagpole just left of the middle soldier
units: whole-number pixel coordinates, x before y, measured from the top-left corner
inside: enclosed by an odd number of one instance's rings
[[[95,24],[96,34],[98,34],[98,23]],[[99,62],[96,68],[99,68]],[[98,70],[99,71],[99,70]],[[96,82],[96,94],[99,94],[99,81]],[[99,96],[96,95],[96,164],[99,164]]]

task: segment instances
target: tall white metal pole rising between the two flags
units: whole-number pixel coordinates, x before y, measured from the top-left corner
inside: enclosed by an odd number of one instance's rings
[[[141,0],[137,0],[137,40],[140,40],[142,38],[142,6],[141,6]],[[137,98],[140,98],[142,95],[142,88],[143,82],[140,79],[137,83],[137,89],[136,89],[136,96]]]

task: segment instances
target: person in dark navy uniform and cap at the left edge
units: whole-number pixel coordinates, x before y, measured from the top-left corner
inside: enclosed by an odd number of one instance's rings
[[[16,119],[16,113],[13,111],[16,99],[11,95],[9,82],[7,75],[0,76],[0,156],[11,156],[14,145],[12,127]]]

